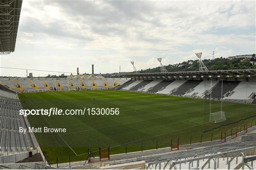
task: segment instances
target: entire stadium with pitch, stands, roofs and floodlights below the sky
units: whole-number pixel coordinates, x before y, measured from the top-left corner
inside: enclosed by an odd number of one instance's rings
[[[22,3],[0,3],[1,54],[15,51]],[[0,169],[256,169],[256,69],[195,56],[196,71],[157,58],[158,72],[128,61],[111,76],[93,62],[90,74],[1,63],[59,76],[0,75]]]

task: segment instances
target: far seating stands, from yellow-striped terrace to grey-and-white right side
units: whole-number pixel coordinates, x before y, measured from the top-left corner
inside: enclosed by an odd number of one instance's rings
[[[234,80],[234,79],[233,79]],[[256,82],[223,81],[223,99],[255,103]],[[221,81],[212,80],[212,99],[221,98]],[[60,90],[130,90],[147,93],[210,98],[210,80],[132,80],[129,78],[0,78],[0,84],[17,93]],[[92,86],[95,84],[95,86]],[[83,86],[82,86],[83,85]]]

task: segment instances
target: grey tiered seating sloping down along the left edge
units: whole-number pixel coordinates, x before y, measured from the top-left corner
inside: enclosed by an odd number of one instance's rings
[[[19,109],[16,94],[0,89],[0,155],[27,152],[33,145],[29,133],[19,133],[19,127],[27,128]]]

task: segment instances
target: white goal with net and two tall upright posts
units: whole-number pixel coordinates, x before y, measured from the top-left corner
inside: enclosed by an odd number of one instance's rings
[[[222,94],[222,89],[223,89],[223,80],[221,80],[221,106],[220,106],[220,111],[213,112],[211,113],[211,81],[210,79],[210,123],[218,123],[221,121],[226,120],[225,112],[222,111],[222,101],[223,101],[223,94]]]

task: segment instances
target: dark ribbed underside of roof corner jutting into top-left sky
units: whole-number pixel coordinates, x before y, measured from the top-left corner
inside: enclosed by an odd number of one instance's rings
[[[0,0],[0,54],[15,50],[22,0]]]

